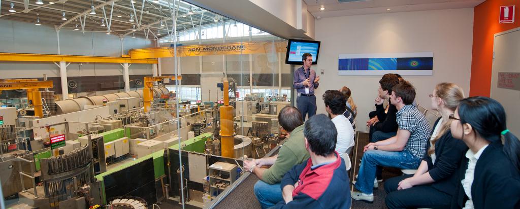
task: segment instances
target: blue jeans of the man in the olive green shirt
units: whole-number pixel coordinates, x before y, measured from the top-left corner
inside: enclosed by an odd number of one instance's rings
[[[270,185],[262,180],[258,180],[254,186],[254,191],[262,209],[275,206],[276,203],[283,200],[280,183]]]

